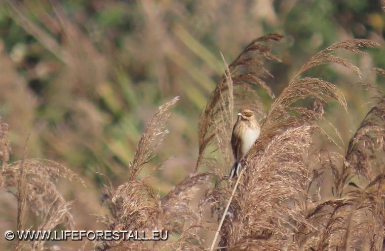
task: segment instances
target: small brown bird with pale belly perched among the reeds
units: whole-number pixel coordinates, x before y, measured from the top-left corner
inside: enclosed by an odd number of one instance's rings
[[[240,109],[238,120],[232,128],[231,147],[234,155],[234,164],[232,164],[230,179],[236,173],[238,176],[241,169],[241,160],[250,151],[261,133],[261,126],[254,117],[253,111],[249,109]]]

